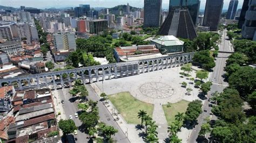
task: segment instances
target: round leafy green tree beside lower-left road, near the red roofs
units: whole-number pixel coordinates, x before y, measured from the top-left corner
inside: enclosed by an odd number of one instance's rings
[[[75,122],[71,119],[68,119],[68,120],[60,119],[58,125],[64,135],[73,133],[75,130],[77,130]]]

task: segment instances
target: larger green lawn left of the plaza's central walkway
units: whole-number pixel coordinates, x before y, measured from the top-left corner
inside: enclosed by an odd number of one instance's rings
[[[150,117],[153,115],[154,106],[138,101],[131,96],[130,92],[120,92],[118,94],[109,95],[109,99],[129,124],[141,123],[141,120],[137,117],[139,110],[146,111]]]

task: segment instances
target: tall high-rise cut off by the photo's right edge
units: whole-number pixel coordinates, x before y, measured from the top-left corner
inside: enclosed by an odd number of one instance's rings
[[[242,37],[256,41],[256,0],[250,0],[245,15],[245,23],[242,25]]]

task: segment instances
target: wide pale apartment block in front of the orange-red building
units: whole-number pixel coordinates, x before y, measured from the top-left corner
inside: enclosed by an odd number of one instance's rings
[[[54,34],[55,47],[57,51],[76,50],[75,34],[62,32]]]

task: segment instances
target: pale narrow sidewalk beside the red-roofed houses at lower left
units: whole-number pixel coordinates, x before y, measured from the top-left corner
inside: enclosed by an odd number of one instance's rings
[[[61,100],[59,98],[57,90],[54,90],[52,92],[52,99],[53,99],[53,103],[54,103],[54,106],[55,106],[55,115],[57,116],[56,120],[57,120],[57,124],[58,124],[59,120],[60,119],[64,119],[65,120],[66,116],[65,116],[64,109],[63,109],[63,104],[61,103]],[[58,115],[59,112],[60,112],[60,115]],[[63,135],[61,130],[59,130],[59,135],[60,136]]]

